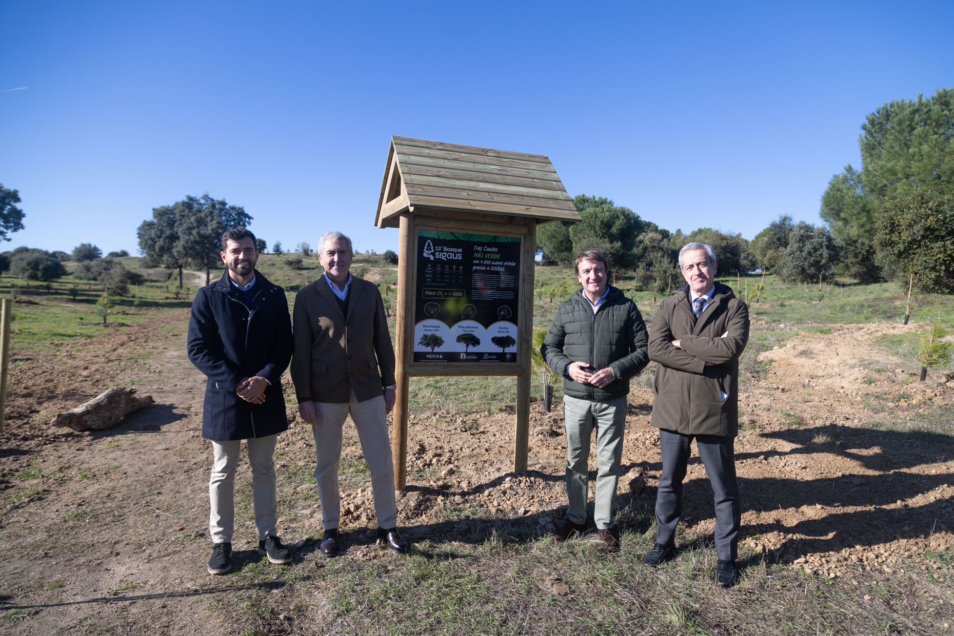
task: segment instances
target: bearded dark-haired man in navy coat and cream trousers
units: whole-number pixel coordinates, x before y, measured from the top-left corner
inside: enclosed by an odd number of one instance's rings
[[[275,442],[288,429],[281,374],[295,342],[284,290],[255,264],[255,235],[244,228],[222,234],[227,269],[218,282],[198,290],[189,321],[189,359],[207,377],[202,437],[212,441],[209,480],[210,574],[224,574],[232,563],[235,529],[235,471],[239,448],[247,441],[252,467],[252,499],[259,526],[259,554],[273,564],[291,562],[281,545],[275,480]]]

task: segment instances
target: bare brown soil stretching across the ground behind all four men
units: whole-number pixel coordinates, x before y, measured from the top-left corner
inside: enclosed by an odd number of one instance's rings
[[[10,420],[0,435],[0,609],[8,616],[0,631],[229,633],[223,595],[240,598],[262,585],[280,593],[283,577],[314,571],[314,538],[321,535],[310,477],[314,444],[289,409],[292,428],[280,437],[278,454],[280,534],[286,544],[301,542],[295,563],[275,568],[267,584],[205,572],[211,449],[199,436],[204,378],[186,359],[188,316],[179,310],[104,329],[76,353],[52,341],[49,352],[15,358]],[[885,331],[918,327],[839,326],[762,355],[774,360],[768,377],[748,380],[739,396],[744,545],[823,577],[850,581],[879,570],[900,582],[905,568],[923,567],[926,557],[954,545],[954,440],[871,426],[885,413],[950,413],[952,382],[912,384],[911,370],[873,343]],[[56,413],[134,382],[156,404],[114,429],[49,427]],[[620,482],[624,519],[626,510],[653,508],[660,456],[651,409],[652,392],[634,390],[623,455],[629,475]],[[531,417],[530,470],[514,475],[511,413],[415,412],[408,487],[399,499],[405,537],[455,544],[467,541],[473,523],[495,518],[533,517],[543,534],[559,523],[566,503],[562,408],[548,414],[534,403]],[[396,559],[370,532],[369,482],[350,423],[342,458],[342,558]],[[247,465],[239,471],[239,490],[247,491]],[[635,493],[637,475],[645,489]],[[683,536],[705,541],[715,520],[697,456],[685,497]],[[247,502],[240,503],[235,547],[243,572],[259,561],[247,513]],[[920,595],[915,603],[949,616],[949,586],[933,576],[938,585],[910,584]],[[327,608],[316,607],[312,619],[321,623]],[[279,619],[270,633],[285,631]]]

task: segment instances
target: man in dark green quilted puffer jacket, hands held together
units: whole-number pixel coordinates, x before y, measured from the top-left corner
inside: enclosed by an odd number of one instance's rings
[[[560,303],[550,333],[540,347],[547,365],[564,378],[567,429],[567,522],[557,541],[582,532],[587,521],[590,436],[596,429],[596,502],[593,521],[600,539],[619,550],[613,521],[626,428],[630,379],[649,363],[646,323],[636,303],[606,284],[606,256],[591,250],[576,256],[583,289]]]

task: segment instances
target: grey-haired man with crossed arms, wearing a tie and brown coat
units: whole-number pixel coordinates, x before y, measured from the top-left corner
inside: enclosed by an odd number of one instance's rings
[[[741,506],[734,442],[738,432],[738,357],[749,339],[749,309],[717,283],[716,251],[689,243],[679,252],[686,286],[659,303],[649,355],[657,362],[653,426],[659,428],[662,473],[656,496],[656,541],[643,564],[674,555],[682,517],[682,481],[695,439],[716,504],[716,583],[736,582]]]

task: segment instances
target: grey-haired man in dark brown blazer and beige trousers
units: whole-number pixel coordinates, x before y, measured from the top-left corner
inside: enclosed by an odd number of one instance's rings
[[[394,499],[394,463],[387,414],[394,408],[394,348],[378,287],[352,277],[351,239],[327,232],[318,241],[324,274],[295,297],[292,381],[301,418],[315,436],[315,479],[321,497],[321,553],[338,553],[341,499],[338,466],[342,425],[355,422],[371,490],[378,536],[404,554]]]

